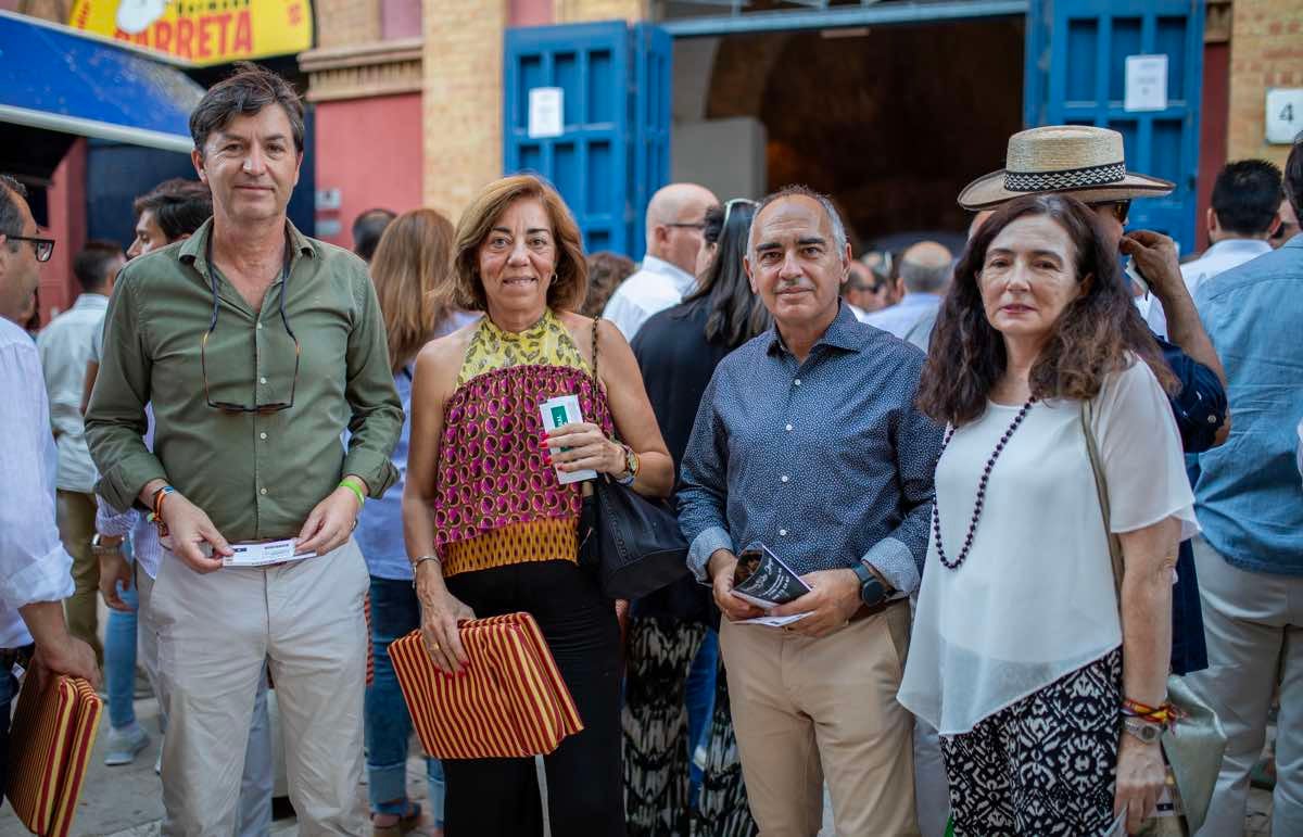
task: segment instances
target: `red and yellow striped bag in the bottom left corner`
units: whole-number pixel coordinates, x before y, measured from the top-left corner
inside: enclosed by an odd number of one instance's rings
[[[65,837],[72,829],[103,711],[90,683],[33,660],[13,713],[5,789],[31,833]]]

